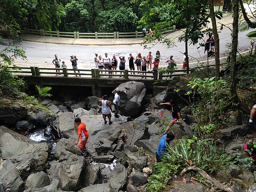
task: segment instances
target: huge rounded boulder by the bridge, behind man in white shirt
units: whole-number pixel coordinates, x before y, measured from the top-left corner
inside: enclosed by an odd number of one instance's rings
[[[120,114],[136,116],[141,108],[141,102],[146,94],[146,87],[142,82],[125,82],[120,84],[112,93],[120,90]]]

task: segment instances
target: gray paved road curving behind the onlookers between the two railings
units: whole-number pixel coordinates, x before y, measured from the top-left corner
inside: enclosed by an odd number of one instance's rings
[[[250,40],[245,36],[249,31],[239,33],[239,48],[243,50],[245,48],[250,48]],[[224,28],[224,30],[219,33],[220,36],[220,53],[224,54],[226,51],[226,44],[231,43],[230,30]],[[75,54],[78,58],[78,67],[79,68],[92,68],[94,66],[94,53],[104,56],[104,53],[107,52],[110,58],[113,54],[116,56],[125,56],[126,57],[126,68],[128,68],[128,56],[131,52],[133,56],[136,56],[138,52],[142,53],[142,56],[146,56],[149,51],[152,52],[153,56],[157,50],[160,51],[161,60],[160,65],[166,65],[165,61],[172,54],[174,60],[176,60],[178,67],[181,67],[185,45],[184,42],[176,41],[176,47],[167,48],[165,45],[156,44],[150,50],[143,49],[143,46],[139,44],[134,45],[118,45],[118,46],[78,46],[78,45],[60,45],[60,44],[46,44],[46,43],[34,43],[34,42],[22,42],[26,50],[27,61],[16,59],[15,63],[19,65],[38,65],[46,67],[54,67],[52,60],[54,59],[54,54],[58,55],[62,61],[65,61],[68,68],[71,68],[70,54]],[[203,48],[196,49],[199,45],[193,46],[190,45],[188,48],[188,54],[202,60],[206,60],[204,56]],[[119,59],[118,59],[119,60]]]

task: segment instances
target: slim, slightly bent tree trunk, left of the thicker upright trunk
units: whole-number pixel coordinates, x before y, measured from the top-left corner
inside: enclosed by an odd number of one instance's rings
[[[215,76],[216,80],[220,79],[220,39],[217,32],[216,18],[214,14],[213,0],[209,0],[210,12],[212,16],[212,32],[215,43]]]

